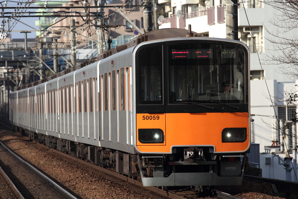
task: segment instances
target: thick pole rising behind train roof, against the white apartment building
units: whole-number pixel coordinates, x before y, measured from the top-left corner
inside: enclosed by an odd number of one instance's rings
[[[238,40],[238,1],[226,0],[226,39]]]

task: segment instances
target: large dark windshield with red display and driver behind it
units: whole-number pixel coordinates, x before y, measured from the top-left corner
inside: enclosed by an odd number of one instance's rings
[[[244,103],[244,60],[235,46],[168,45],[169,103]]]

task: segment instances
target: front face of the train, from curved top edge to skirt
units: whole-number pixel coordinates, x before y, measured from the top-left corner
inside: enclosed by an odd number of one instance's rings
[[[250,148],[247,46],[173,38],[138,45],[134,58],[143,185],[241,185]]]

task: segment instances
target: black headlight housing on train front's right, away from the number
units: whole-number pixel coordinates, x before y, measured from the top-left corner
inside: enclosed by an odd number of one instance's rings
[[[224,128],[221,131],[221,142],[245,142],[246,128]]]

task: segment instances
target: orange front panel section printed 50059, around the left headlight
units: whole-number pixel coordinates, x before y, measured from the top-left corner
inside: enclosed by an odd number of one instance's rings
[[[153,117],[155,116],[155,117]],[[147,148],[150,149],[150,147],[153,146],[155,148],[156,145],[166,145],[166,115],[164,113],[159,113],[159,114],[136,114],[136,128],[141,129],[141,128],[160,128],[162,131],[164,131],[164,143],[159,143],[159,144],[143,144],[139,142],[138,136],[139,132],[137,130],[136,132],[136,145],[139,146],[144,145]],[[158,118],[158,119],[157,119]],[[163,146],[162,149],[164,149],[165,146]]]

